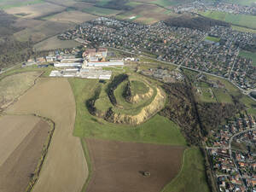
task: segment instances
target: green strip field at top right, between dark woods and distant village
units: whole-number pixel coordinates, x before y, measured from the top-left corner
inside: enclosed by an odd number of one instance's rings
[[[220,11],[201,12],[201,15],[214,20],[223,20],[233,25],[246,26],[251,29],[256,29],[256,16],[254,15],[235,15]]]

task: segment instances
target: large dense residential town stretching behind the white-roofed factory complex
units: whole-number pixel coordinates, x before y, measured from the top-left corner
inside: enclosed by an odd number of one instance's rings
[[[154,25],[100,17],[59,35],[62,40],[82,38],[86,47],[111,47],[143,54],[200,72],[229,79],[242,90],[256,87],[253,61],[239,55],[255,36],[228,26],[212,26],[208,31]]]

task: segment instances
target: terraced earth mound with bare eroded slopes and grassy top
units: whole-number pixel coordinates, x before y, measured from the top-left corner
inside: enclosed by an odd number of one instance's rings
[[[139,125],[164,108],[166,94],[141,76],[115,76],[96,88],[86,106],[90,113],[112,123]]]

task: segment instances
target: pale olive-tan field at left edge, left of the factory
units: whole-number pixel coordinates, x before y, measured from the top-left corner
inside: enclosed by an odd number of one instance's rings
[[[41,72],[17,73],[2,79],[0,81],[0,110],[9,106],[28,90],[39,75]]]

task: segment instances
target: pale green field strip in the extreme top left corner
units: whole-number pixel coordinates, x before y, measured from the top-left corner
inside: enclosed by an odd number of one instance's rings
[[[32,5],[37,3],[44,3],[43,0],[0,0],[0,9],[10,9],[15,7],[21,7],[26,5]]]

